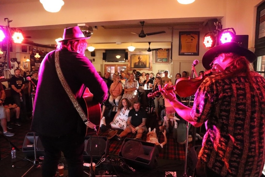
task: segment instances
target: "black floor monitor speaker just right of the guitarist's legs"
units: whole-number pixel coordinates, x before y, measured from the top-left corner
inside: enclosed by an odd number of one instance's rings
[[[101,157],[106,151],[109,151],[109,148],[107,148],[107,137],[92,136],[91,142],[91,152],[93,157]],[[83,157],[84,159],[90,159],[90,136],[85,137],[85,151]]]

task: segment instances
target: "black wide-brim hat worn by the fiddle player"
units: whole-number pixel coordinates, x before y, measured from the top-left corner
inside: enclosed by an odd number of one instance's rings
[[[247,60],[251,63],[257,59],[257,56],[253,52],[241,47],[239,43],[226,42],[224,44],[211,48],[204,54],[202,58],[202,64],[204,68],[207,70],[211,69],[212,67],[210,66],[210,64],[219,54],[230,52],[246,57]]]

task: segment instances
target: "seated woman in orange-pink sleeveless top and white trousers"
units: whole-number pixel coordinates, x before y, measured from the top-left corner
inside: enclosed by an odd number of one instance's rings
[[[116,75],[114,82],[111,84],[110,89],[109,89],[109,103],[113,106],[112,111],[117,111],[118,110],[118,105],[119,101],[122,97],[122,85],[120,82],[120,76]]]

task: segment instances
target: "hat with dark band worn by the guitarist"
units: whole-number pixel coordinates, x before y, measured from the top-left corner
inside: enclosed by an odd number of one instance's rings
[[[90,37],[85,37],[78,26],[69,27],[64,29],[63,39],[58,42],[63,42],[67,40],[81,40],[89,39]]]

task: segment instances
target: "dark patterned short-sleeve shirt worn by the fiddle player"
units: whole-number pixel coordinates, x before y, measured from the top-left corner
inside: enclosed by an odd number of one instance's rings
[[[265,79],[251,72],[206,78],[198,88],[191,116],[208,120],[201,162],[220,176],[260,176],[264,167]]]

